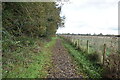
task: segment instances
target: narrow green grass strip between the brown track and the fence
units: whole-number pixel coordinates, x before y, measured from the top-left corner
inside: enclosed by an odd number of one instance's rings
[[[82,69],[82,71],[87,74],[89,78],[101,78],[102,69],[100,67],[94,66],[93,63],[87,59],[85,53],[75,50],[75,47],[66,41],[63,41],[63,45],[68,49],[70,55],[78,64],[79,71]]]

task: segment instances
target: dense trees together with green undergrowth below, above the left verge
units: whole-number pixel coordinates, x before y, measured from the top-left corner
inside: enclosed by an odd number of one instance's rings
[[[56,3],[3,2],[2,51],[12,52],[34,44],[33,39],[55,35],[61,24]]]

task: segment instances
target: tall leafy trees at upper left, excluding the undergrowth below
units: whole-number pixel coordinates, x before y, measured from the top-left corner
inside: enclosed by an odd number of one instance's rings
[[[48,37],[64,25],[61,6],[54,2],[3,2],[3,37],[6,31],[13,36]]]

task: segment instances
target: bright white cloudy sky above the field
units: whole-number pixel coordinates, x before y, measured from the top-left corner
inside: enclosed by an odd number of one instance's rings
[[[69,0],[61,10],[65,27],[57,33],[118,34],[118,1]]]

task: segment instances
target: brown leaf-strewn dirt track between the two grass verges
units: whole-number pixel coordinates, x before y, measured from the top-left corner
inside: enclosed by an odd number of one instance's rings
[[[48,78],[82,78],[76,73],[75,65],[60,39],[57,39],[53,48],[52,58],[53,67],[49,70]]]

